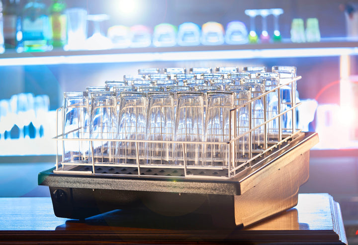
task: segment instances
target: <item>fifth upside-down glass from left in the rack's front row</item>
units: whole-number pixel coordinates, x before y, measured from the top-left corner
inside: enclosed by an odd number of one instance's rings
[[[204,110],[203,93],[196,91],[180,91],[176,116],[175,140],[185,141],[187,144],[177,143],[175,160],[177,165],[202,164],[202,144],[192,142],[203,141]],[[184,149],[183,149],[184,148]]]

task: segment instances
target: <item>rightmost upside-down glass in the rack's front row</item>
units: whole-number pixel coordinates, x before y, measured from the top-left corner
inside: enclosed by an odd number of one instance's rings
[[[207,93],[208,106],[205,117],[205,142],[203,165],[229,167],[230,110],[234,106],[234,96],[228,91]]]

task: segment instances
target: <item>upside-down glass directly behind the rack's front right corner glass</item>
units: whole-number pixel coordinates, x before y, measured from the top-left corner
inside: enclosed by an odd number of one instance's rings
[[[235,132],[234,137],[242,135],[235,143],[235,156],[236,161],[233,167],[239,166],[241,163],[246,162],[251,158],[251,138],[250,131],[251,120],[250,111],[251,103],[244,105],[251,100],[251,87],[247,85],[233,85],[227,86],[227,91],[234,94],[234,106],[235,110]]]

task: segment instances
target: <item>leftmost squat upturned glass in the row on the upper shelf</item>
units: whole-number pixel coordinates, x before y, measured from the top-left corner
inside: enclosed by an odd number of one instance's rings
[[[124,25],[114,25],[108,28],[107,37],[113,48],[128,48],[131,45],[130,28]]]

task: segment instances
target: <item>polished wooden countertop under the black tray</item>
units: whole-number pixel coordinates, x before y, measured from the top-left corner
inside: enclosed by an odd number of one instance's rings
[[[296,207],[245,229],[205,226],[114,210],[78,220],[58,218],[49,197],[0,198],[0,244],[347,244],[340,206],[329,194],[299,194]]]

